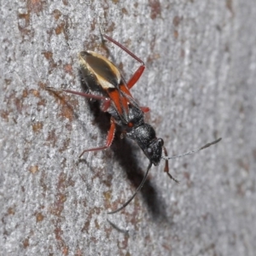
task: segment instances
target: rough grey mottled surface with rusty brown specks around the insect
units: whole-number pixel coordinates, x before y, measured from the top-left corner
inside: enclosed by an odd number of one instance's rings
[[[255,255],[255,0],[1,0],[1,255]],[[99,25],[146,63],[132,88],[170,155],[174,183],[83,97],[78,53],[138,63],[102,47]],[[107,218],[116,227],[109,224]],[[123,231],[122,231],[123,230]],[[124,232],[126,230],[126,232]]]

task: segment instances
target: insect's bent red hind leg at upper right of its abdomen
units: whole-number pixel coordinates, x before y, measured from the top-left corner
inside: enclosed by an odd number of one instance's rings
[[[140,62],[141,63],[141,66],[138,67],[137,71],[132,75],[131,79],[128,81],[127,83],[127,87],[128,89],[131,89],[131,87],[137,83],[137,80],[140,79],[140,77],[142,76],[143,74],[143,71],[145,69],[145,64],[144,62],[137,57],[137,55],[134,55],[129,49],[127,49],[124,45],[122,44],[119,44],[119,42],[115,41],[113,38],[109,38],[107,35],[102,35],[104,38],[107,38],[108,41],[112,42],[113,44],[116,44],[117,46],[119,46],[119,48],[125,50],[125,52],[128,54],[128,55],[131,55],[132,58],[134,58],[136,61]]]

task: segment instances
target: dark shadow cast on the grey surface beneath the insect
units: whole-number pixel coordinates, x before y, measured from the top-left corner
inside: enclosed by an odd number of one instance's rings
[[[88,93],[87,85],[85,84],[81,73],[79,73],[79,79],[82,90],[85,93]],[[90,108],[90,112],[94,116],[95,125],[100,129],[101,133],[106,134],[107,137],[110,125],[110,114],[102,112],[102,109],[100,108],[101,103],[99,101],[86,98],[84,101],[87,102],[87,105]],[[126,173],[134,189],[137,189],[145,174],[145,170],[140,167],[139,160],[135,156],[135,154],[138,153],[137,151],[139,151],[139,148],[131,140],[126,140],[125,138],[122,139],[119,126],[117,125],[116,128],[117,130],[115,131],[113,143],[110,148],[105,150],[113,151],[113,160],[119,162],[119,166],[121,167],[122,171]],[[104,140],[102,141],[102,144],[103,143]],[[84,160],[81,159],[80,161]],[[133,192],[131,192],[131,195],[132,193]],[[143,185],[143,189],[141,189],[141,195],[143,195],[143,201],[145,201],[148,207],[148,212],[153,218],[166,218],[166,204],[160,198],[157,189],[154,187],[154,184],[150,181],[149,178],[147,178]]]

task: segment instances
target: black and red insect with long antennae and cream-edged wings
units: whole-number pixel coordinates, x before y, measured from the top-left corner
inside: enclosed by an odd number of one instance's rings
[[[137,192],[142,189],[152,165],[158,166],[160,164],[160,160],[165,160],[166,164],[164,172],[178,183],[177,179],[172,177],[172,174],[169,172],[168,160],[183,157],[187,154],[194,154],[204,148],[218,143],[221,138],[187,153],[168,156],[163,139],[156,137],[154,128],[144,122],[144,113],[147,113],[149,108],[140,107],[131,96],[131,88],[137,83],[138,79],[140,79],[145,69],[144,62],[113,38],[110,38],[103,33],[102,36],[107,38],[108,41],[113,44],[116,44],[120,49],[123,49],[128,55],[131,55],[133,59],[140,63],[140,67],[137,68],[137,71],[131,76],[131,79],[128,82],[125,82],[125,79],[119,72],[119,69],[112,61],[109,61],[106,57],[99,55],[96,52],[90,50],[82,51],[79,53],[79,63],[81,67],[81,74],[86,86],[88,87],[89,93],[73,90],[61,91],[99,100],[102,102],[102,111],[108,112],[111,115],[110,128],[105,145],[98,148],[85,149],[79,155],[79,158],[85,152],[109,148],[113,142],[116,125],[119,125],[123,136],[134,140],[138,146],[142,148],[143,153],[149,160],[147,172],[143,177],[142,183],[140,183],[135,193],[122,207],[119,207],[113,212],[108,212],[108,214],[113,214],[125,208],[137,195]],[[48,87],[47,89],[55,90],[51,87]]]

